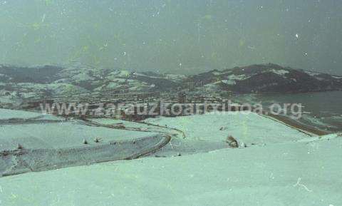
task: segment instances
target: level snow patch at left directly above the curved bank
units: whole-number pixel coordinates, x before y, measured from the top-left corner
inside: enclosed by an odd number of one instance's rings
[[[104,142],[139,138],[146,135],[135,131],[113,130],[82,125],[76,122],[1,125],[0,150],[14,149],[20,143],[25,148],[70,148],[83,145],[83,140]]]

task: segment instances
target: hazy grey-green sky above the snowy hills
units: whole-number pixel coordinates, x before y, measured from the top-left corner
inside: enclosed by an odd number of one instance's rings
[[[341,11],[336,0],[0,0],[0,64],[342,75]]]

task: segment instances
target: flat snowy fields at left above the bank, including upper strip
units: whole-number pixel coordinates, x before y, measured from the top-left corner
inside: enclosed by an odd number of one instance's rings
[[[35,123],[8,124],[6,120],[13,118],[33,119]],[[46,123],[40,120],[61,120],[57,123]],[[24,148],[71,148],[83,145],[83,140],[95,144],[95,138],[102,143],[112,140],[129,140],[142,138],[155,133],[144,133],[128,130],[114,130],[88,126],[79,120],[65,121],[51,115],[25,112],[19,110],[0,109],[0,150],[15,149],[18,144]]]

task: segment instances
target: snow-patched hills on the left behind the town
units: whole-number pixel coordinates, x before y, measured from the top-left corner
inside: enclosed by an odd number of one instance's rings
[[[18,98],[71,96],[78,93],[170,91],[186,76],[95,68],[81,63],[65,66],[0,65],[0,102]]]

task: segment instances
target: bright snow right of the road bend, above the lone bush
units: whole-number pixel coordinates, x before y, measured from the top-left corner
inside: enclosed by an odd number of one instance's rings
[[[252,112],[160,117],[150,118],[145,122],[177,128],[185,132],[187,139],[201,141],[225,141],[228,135],[232,135],[239,141],[251,145],[284,143],[308,137],[298,130]]]

